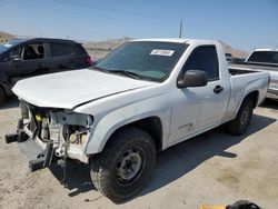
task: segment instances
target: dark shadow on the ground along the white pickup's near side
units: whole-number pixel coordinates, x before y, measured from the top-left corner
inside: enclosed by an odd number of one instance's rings
[[[242,136],[235,137],[217,128],[160,152],[151,180],[138,196],[146,196],[171,183],[215,156],[236,158],[236,153],[225,150],[275,121],[272,118],[254,115],[248,131]]]

